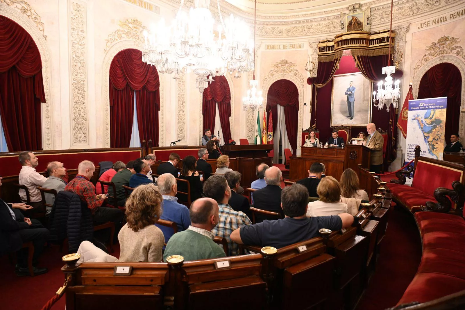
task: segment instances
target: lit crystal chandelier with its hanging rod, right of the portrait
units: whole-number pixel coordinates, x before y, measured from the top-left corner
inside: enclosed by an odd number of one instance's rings
[[[387,66],[383,67],[383,74],[386,74],[385,82],[378,82],[378,92],[373,92],[373,105],[378,107],[379,110],[382,110],[386,106],[386,112],[389,112],[389,107],[392,106],[394,109],[397,109],[399,106],[399,97],[400,97],[400,88],[399,80],[396,80],[394,83],[394,88],[392,88],[392,74],[396,72],[396,67],[391,66],[391,38],[392,38],[392,7],[393,0],[391,0],[391,27],[389,29],[389,54],[387,60]],[[383,88],[384,85],[384,88]],[[378,100],[378,105],[374,102]]]

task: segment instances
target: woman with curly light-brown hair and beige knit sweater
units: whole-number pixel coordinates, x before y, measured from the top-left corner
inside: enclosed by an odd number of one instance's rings
[[[153,183],[139,185],[127,198],[127,223],[118,234],[120,262],[161,262],[165,237],[154,224],[163,213],[162,202]]]

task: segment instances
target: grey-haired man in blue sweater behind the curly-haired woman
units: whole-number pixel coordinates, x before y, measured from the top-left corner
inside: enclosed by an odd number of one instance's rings
[[[178,203],[176,178],[171,173],[163,173],[158,177],[157,185],[163,197],[163,213],[160,218],[176,223],[178,231],[185,231],[191,224],[191,218],[189,217],[189,209],[184,204]],[[155,225],[163,231],[167,243],[173,236],[173,229],[159,224]]]

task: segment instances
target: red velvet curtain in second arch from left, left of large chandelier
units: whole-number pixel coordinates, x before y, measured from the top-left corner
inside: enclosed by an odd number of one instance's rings
[[[122,50],[110,66],[111,147],[128,147],[133,124],[133,94],[136,91],[137,121],[141,140],[152,139],[158,146],[158,111],[160,81],[155,66],[142,62],[142,52]],[[131,112],[128,111],[131,109]],[[126,115],[121,115],[121,114]],[[124,122],[124,123],[122,123]]]

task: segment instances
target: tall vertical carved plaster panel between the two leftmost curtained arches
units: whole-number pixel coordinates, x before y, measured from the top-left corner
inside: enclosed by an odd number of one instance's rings
[[[70,0],[69,4],[69,48],[71,72],[71,110],[73,137],[71,145],[88,145],[88,106],[87,106],[87,28],[86,3]]]

